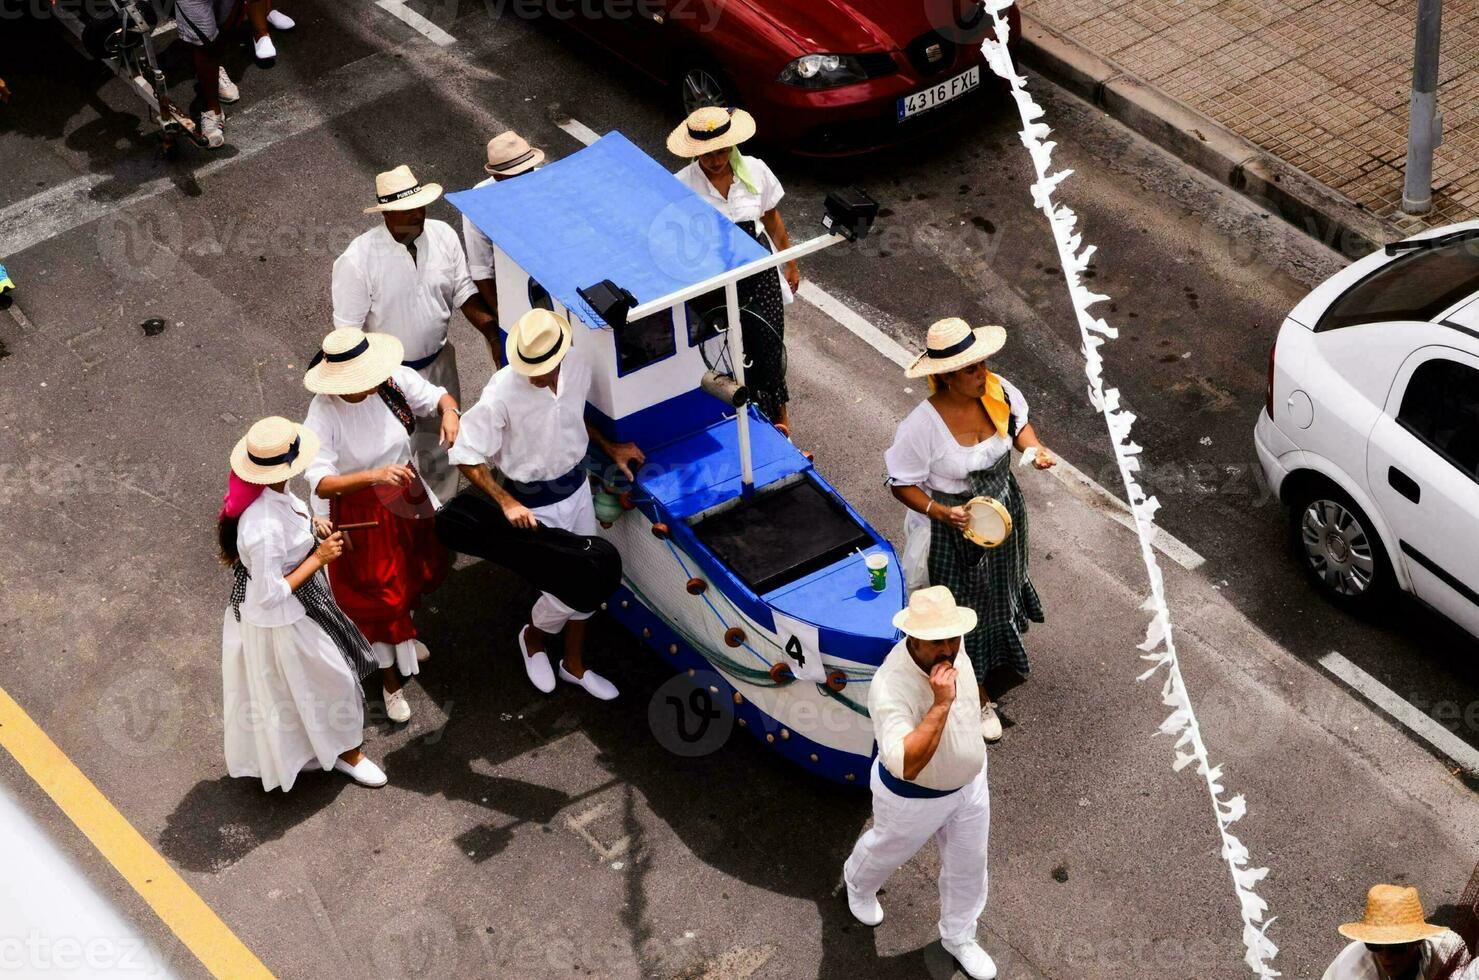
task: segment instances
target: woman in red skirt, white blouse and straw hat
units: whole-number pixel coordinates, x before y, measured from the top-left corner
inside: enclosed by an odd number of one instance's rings
[[[411,466],[411,436],[417,417],[441,412],[450,446],[458,424],[457,399],[404,367],[402,353],[390,334],[342,328],[303,377],[317,393],[303,424],[324,446],[306,472],[314,497],[328,501],[336,526],[373,525],[349,531],[328,581],[370,639],[392,721],[411,717],[401,677],[420,673],[429,656],[411,612],[447,574],[433,522],[439,501]]]

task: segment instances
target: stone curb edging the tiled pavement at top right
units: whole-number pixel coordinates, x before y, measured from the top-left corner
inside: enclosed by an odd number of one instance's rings
[[[1343,256],[1412,234],[1026,13],[1022,62]]]

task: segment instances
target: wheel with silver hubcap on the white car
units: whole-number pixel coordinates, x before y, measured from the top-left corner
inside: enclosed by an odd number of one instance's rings
[[[1294,501],[1291,516],[1294,550],[1327,599],[1367,610],[1390,594],[1392,565],[1381,538],[1344,491],[1313,485]]]

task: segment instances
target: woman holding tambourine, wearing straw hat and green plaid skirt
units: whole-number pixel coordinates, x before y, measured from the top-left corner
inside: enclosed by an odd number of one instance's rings
[[[1012,448],[1040,470],[1055,464],[1028,424],[1026,398],[986,370],[1006,340],[1003,327],[972,330],[958,318],[930,327],[924,353],[907,371],[926,378],[930,395],[899,423],[884,455],[893,497],[910,508],[905,588],[947,585],[955,602],[979,613],[966,653],[982,684],[991,670],[1026,677],[1021,634],[1043,622],[1028,578],[1026,504]],[[981,704],[982,735],[995,742],[1001,721],[984,686]]]

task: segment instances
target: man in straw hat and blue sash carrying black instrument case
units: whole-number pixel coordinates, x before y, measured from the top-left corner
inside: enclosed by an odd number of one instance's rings
[[[629,479],[643,455],[630,442],[611,442],[586,421],[590,365],[572,352],[572,343],[569,321],[558,313],[532,309],[519,318],[509,333],[509,365],[488,380],[478,404],[463,417],[450,458],[515,528],[543,525],[589,537],[596,534],[596,507],[584,469],[590,442]],[[490,466],[503,473],[503,485],[493,479]],[[602,701],[617,696],[615,684],[587,670],[581,659],[590,616],[550,593],[534,603],[529,625],[519,630],[518,640],[524,670],[541,692],[555,690],[547,644],[563,633],[559,678]]]

